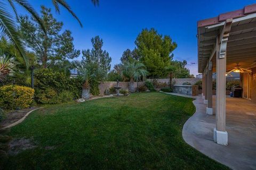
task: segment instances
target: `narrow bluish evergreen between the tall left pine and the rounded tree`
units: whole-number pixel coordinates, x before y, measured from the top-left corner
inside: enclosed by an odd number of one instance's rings
[[[111,67],[111,57],[109,56],[106,50],[102,50],[103,40],[99,36],[92,38],[92,49],[82,50],[83,60],[86,63],[91,63],[94,70],[103,70],[104,72],[109,72]],[[104,77],[97,77],[97,80],[104,80],[107,78],[107,75]]]

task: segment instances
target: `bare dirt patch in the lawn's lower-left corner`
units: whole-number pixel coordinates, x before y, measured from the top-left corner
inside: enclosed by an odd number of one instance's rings
[[[33,139],[25,139],[25,138],[13,139],[9,143],[8,154],[17,155],[19,154],[19,152],[23,150],[33,149],[35,147],[37,146],[33,142]]]

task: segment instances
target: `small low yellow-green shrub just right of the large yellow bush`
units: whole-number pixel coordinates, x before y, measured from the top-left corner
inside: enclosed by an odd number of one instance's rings
[[[35,100],[37,103],[41,104],[57,104],[58,103],[58,93],[52,88],[47,88],[45,90],[36,90]]]

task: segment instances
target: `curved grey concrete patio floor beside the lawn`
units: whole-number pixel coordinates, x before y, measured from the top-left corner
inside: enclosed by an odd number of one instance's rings
[[[183,126],[183,139],[203,154],[232,169],[256,169],[256,104],[242,98],[226,98],[228,146],[222,146],[213,141],[215,115],[206,114],[202,96],[193,98],[196,112]],[[215,97],[213,106],[214,101]]]

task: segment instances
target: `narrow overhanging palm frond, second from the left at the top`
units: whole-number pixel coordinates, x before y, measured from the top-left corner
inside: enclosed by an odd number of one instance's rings
[[[34,18],[35,20],[39,23],[41,28],[43,29],[44,32],[46,32],[44,22],[41,20],[40,16],[38,13],[35,11],[35,9],[26,1],[26,0],[9,0],[10,1],[15,1],[17,2],[20,6],[25,8]]]

